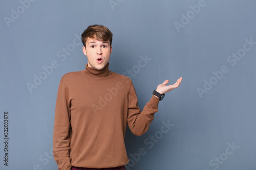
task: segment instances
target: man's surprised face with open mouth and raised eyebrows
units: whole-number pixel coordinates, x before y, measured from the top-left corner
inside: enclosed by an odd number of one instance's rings
[[[86,47],[82,47],[83,54],[87,56],[88,66],[101,70],[110,60],[112,46],[110,41],[99,41],[94,38],[88,38]]]

